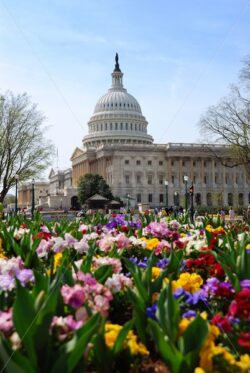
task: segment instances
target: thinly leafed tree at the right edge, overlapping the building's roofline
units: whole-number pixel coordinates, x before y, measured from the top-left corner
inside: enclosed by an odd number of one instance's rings
[[[239,84],[232,85],[226,97],[208,108],[199,127],[203,139],[228,145],[227,161],[211,149],[224,166],[242,165],[250,177],[250,55],[244,60],[239,78]]]

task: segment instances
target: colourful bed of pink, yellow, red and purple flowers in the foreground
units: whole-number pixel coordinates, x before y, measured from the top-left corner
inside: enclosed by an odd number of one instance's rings
[[[250,371],[248,225],[41,219],[1,222],[1,371]]]

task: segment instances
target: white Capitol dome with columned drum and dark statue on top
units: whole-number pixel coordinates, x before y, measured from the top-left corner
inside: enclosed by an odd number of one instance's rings
[[[83,138],[83,146],[152,144],[153,138],[147,134],[148,123],[138,101],[123,88],[123,73],[119,67],[118,55],[111,75],[112,87],[97,101],[88,122],[89,134]]]

